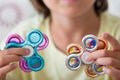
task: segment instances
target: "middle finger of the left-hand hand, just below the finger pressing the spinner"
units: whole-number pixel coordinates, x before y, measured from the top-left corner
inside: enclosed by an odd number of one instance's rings
[[[21,57],[17,56],[17,55],[3,56],[3,57],[0,58],[0,67],[8,65],[11,62],[19,61],[20,59],[21,59]]]

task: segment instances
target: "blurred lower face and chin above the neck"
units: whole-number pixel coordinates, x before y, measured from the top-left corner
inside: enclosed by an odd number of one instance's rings
[[[78,16],[90,10],[95,0],[43,0],[43,2],[51,13]]]

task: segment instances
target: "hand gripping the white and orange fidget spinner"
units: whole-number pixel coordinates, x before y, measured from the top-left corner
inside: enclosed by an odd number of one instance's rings
[[[96,60],[97,64],[110,66],[103,68],[106,74],[120,80],[120,43],[111,35],[104,33],[103,39],[108,41],[112,50],[97,50],[88,55],[87,61]]]

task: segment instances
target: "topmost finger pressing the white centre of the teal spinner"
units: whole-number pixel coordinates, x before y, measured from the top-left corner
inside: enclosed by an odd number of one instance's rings
[[[30,53],[29,49],[25,48],[10,48],[6,50],[2,50],[1,53],[7,55],[18,55],[18,56],[25,56]]]

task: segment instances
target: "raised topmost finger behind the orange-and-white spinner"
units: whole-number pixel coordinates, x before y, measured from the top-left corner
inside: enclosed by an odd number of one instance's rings
[[[102,37],[110,43],[113,50],[120,50],[120,43],[113,36],[108,33],[103,33]]]

